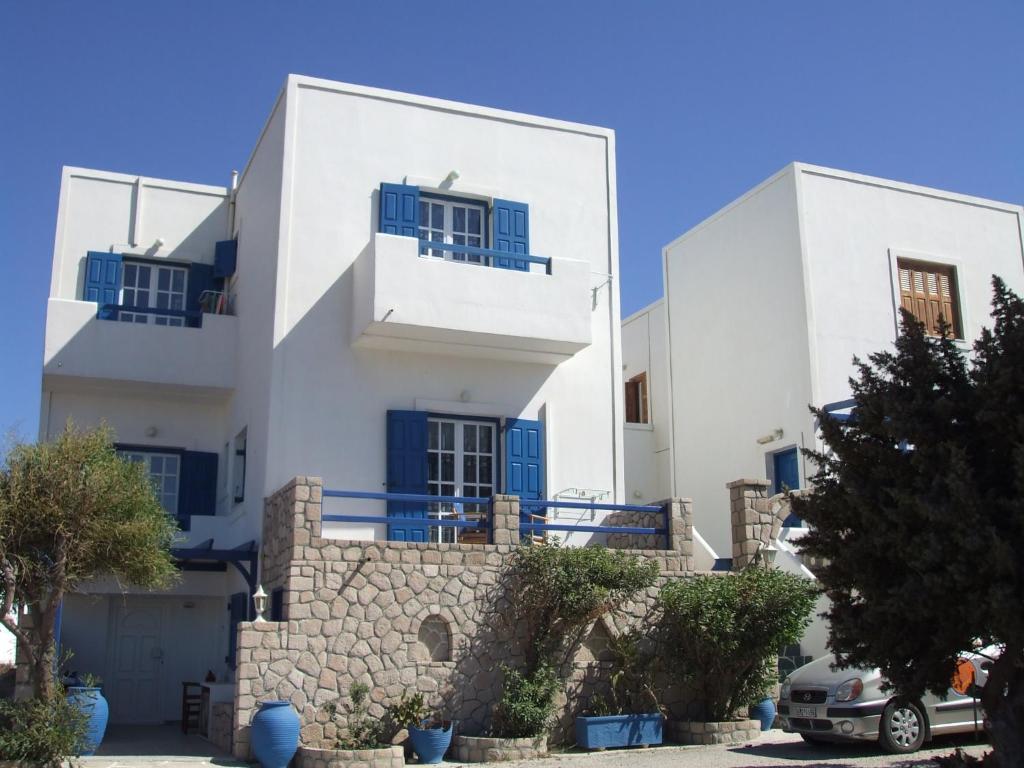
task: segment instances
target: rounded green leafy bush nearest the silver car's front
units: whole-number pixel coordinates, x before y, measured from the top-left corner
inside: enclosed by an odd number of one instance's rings
[[[668,673],[697,695],[696,717],[729,720],[763,698],[775,653],[800,640],[816,597],[808,580],[759,566],[667,584],[658,640]]]

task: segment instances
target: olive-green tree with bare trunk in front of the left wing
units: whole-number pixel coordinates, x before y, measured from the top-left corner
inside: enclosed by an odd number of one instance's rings
[[[65,596],[112,575],[161,588],[176,578],[177,525],[145,470],[114,450],[106,428],[69,422],[51,442],[16,443],[0,465],[0,621],[31,667],[33,692],[54,691],[54,630]],[[15,622],[10,614],[31,614]]]

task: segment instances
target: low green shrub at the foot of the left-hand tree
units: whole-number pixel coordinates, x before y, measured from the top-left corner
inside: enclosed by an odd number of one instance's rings
[[[59,686],[48,699],[0,700],[0,760],[57,768],[81,752],[87,722]]]

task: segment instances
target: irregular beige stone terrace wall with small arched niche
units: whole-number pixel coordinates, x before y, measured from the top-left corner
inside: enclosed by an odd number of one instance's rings
[[[518,541],[518,499],[495,497],[489,545],[325,540],[321,500],[318,478],[297,477],[266,502],[261,579],[268,592],[285,588],[286,621],[239,626],[236,757],[249,756],[248,724],[267,699],[292,702],[302,743],[331,741],[335,726],[324,706],[346,697],[353,682],[370,686],[375,717],[418,690],[461,733],[482,733],[500,696],[501,665],[522,660],[523,628],[512,620],[503,579]],[[637,550],[658,562],[663,581],[693,568],[690,508],[676,501],[671,514],[674,549]],[[639,622],[656,594],[606,617],[596,634]],[[555,741],[606,677],[607,663],[593,652],[600,638],[585,645],[570,662]],[[680,692],[666,703],[682,712],[688,699]]]

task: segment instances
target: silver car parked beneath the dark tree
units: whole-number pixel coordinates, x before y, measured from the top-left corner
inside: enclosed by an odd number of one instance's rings
[[[978,696],[988,678],[984,667],[997,653],[984,648],[963,654],[945,697],[926,693],[916,700],[884,692],[878,670],[833,671],[836,659],[822,656],[783,681],[778,706],[782,730],[812,742],[878,741],[892,753],[914,752],[944,733],[981,731],[984,713]]]

